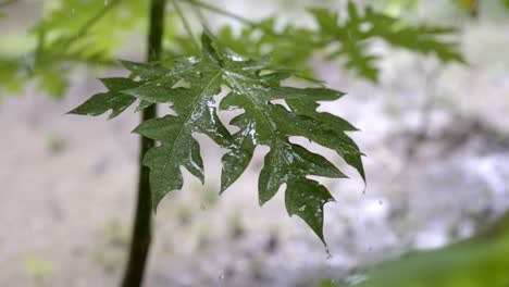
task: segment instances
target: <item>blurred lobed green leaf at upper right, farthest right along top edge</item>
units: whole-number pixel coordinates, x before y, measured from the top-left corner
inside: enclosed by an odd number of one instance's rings
[[[443,62],[464,62],[457,45],[446,40],[455,35],[452,28],[406,25],[370,8],[360,13],[352,1],[348,2],[348,20],[343,24],[338,14],[330,10],[312,9],[310,12],[319,23],[322,41],[340,45],[331,52],[330,59],[344,57],[347,67],[372,80],[377,79],[378,68],[377,58],[368,52],[367,40],[370,39],[380,38],[396,48],[434,54]]]

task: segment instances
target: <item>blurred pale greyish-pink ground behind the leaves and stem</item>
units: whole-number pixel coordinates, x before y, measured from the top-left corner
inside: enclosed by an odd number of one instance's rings
[[[251,20],[278,15],[306,25],[305,8],[340,11],[345,1],[210,2]],[[455,0],[355,2],[412,23],[459,27],[468,64],[444,64],[376,42],[376,84],[337,62],[313,63],[318,78],[348,92],[322,109],[361,129],[350,135],[367,154],[367,186],[338,158],[351,178],[323,182],[337,201],[325,211],[330,254],[300,219],[287,216],[283,192],[258,205],[266,149],[257,149],[247,173],[220,197],[223,151],[197,135],[206,184],[183,170],[183,190],[159,207],[147,286],[314,286],[409,250],[467,238],[508,209],[509,10],[504,1],[481,0],[475,11],[469,1]],[[28,33],[47,3],[0,3],[0,54],[23,57],[34,47]],[[214,14],[207,18],[218,27],[240,25]],[[141,35],[131,36],[119,58],[142,60]],[[9,67],[2,68],[7,74]],[[2,91],[0,286],[115,286],[121,277],[137,183],[138,139],[131,132],[139,114],[108,122],[105,115],[65,115],[103,90],[97,77],[104,75],[125,73],[73,68],[60,75],[70,78],[63,98],[48,97],[33,82]]]

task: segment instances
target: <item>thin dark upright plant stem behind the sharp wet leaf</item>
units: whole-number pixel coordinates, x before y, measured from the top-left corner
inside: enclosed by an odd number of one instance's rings
[[[147,49],[147,60],[149,62],[159,61],[161,59],[165,4],[165,0],[150,1],[150,25]],[[141,121],[145,122],[153,118],[156,115],[157,105],[152,104],[142,111]],[[151,242],[152,198],[149,183],[150,171],[147,166],[142,165],[142,158],[144,154],[153,146],[153,140],[141,137],[139,150],[138,201],[129,259],[122,282],[122,287],[139,287],[144,279],[147,257]]]

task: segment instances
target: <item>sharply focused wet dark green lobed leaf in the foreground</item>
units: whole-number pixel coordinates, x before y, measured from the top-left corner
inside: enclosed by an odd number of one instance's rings
[[[272,199],[278,188],[286,185],[288,213],[300,216],[324,241],[323,205],[333,201],[333,197],[324,186],[308,176],[346,176],[327,159],[290,142],[289,138],[306,137],[335,150],[364,178],[362,154],[345,134],[356,128],[340,117],[316,112],[318,102],[334,101],[344,93],[326,88],[281,86],[281,82],[289,76],[285,71],[278,71],[265,61],[227,52],[207,33],[202,36],[200,57],[179,58],[170,68],[133,62],[124,62],[124,66],[140,80],[103,79],[110,91],[94,96],[72,113],[97,115],[111,109],[112,115],[116,115],[135,99],[172,107],[176,115],[149,120],[135,129],[161,142],[144,159],[144,164],[151,170],[154,207],[167,192],[182,188],[181,166],[203,180],[200,147],[193,133],[206,134],[228,149],[222,159],[222,191],[245,172],[254,148],[264,145],[271,150],[260,174],[260,204]],[[108,85],[104,80],[114,80],[115,85]],[[214,97],[224,87],[229,92],[218,103]],[[275,100],[286,102],[289,110],[274,103]],[[219,118],[219,109],[244,111],[229,123],[239,127],[238,132],[228,133]]]

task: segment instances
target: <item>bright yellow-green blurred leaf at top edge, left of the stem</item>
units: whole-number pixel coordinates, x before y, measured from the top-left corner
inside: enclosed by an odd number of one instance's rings
[[[125,32],[139,28],[148,13],[146,3],[136,0],[48,1],[45,10],[33,32],[46,34],[48,49],[61,49],[72,41],[72,47],[64,47],[66,51],[79,51],[84,57],[102,53],[104,58],[114,54],[125,42]]]

